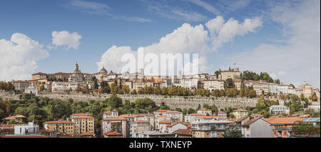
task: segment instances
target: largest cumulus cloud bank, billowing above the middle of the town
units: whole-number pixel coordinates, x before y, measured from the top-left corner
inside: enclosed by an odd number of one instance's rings
[[[194,59],[184,61],[185,65],[182,66],[182,70],[187,71],[186,69],[190,69],[190,67],[198,67],[198,72],[206,71],[208,70],[206,57],[208,52],[215,51],[223,43],[231,41],[235,36],[243,36],[248,32],[254,32],[255,29],[262,25],[260,18],[245,19],[241,24],[234,19],[224,22],[223,17],[218,16],[205,24],[208,30],[202,24],[191,26],[185,23],[172,33],[163,36],[157,43],[144,46],[144,54],[153,53],[157,56],[161,56],[161,54],[173,54],[174,56],[175,54],[181,54],[182,56],[184,56],[183,54],[190,54],[190,57],[193,54],[198,54],[198,63],[195,63],[194,61],[196,60]],[[228,29],[233,32],[227,32]],[[103,54],[101,61],[97,62],[98,70],[104,65],[108,69],[116,69],[120,72],[121,67],[126,64],[121,62],[121,56],[127,53],[133,54],[137,58],[137,51],[133,51],[128,46],[112,46]],[[158,61],[161,61],[161,58]],[[164,63],[161,64],[164,65]],[[168,75],[177,74],[177,71],[171,72],[171,69],[174,69],[175,66],[177,68],[178,65],[168,64]],[[185,72],[185,74],[189,73]]]

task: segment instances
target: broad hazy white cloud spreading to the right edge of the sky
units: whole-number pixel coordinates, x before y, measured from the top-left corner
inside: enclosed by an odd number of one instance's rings
[[[270,19],[282,25],[285,45],[260,44],[232,60],[242,69],[267,71],[280,81],[320,88],[320,1],[273,4]]]

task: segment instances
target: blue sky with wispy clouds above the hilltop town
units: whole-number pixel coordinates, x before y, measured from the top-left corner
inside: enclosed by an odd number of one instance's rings
[[[45,57],[21,56],[21,61],[15,64],[2,64],[0,78],[8,80],[11,76],[23,79],[38,71],[71,72],[76,61],[83,72],[94,73],[101,65],[108,70],[116,70],[118,64],[110,64],[111,60],[103,61],[102,57],[112,46],[130,46],[131,51],[136,51],[139,46],[161,46],[160,39],[183,24],[192,27],[201,24],[210,35],[205,24],[218,16],[223,17],[224,23],[230,18],[240,24],[245,19],[259,19],[260,23],[253,25],[253,30],[247,29],[241,34],[237,32],[227,41],[222,40],[217,49],[201,53],[207,59],[201,72],[213,74],[219,68],[228,69],[237,63],[241,71],[267,71],[285,83],[300,85],[302,81],[307,81],[320,88],[320,1],[317,0],[1,1],[0,40],[12,41],[14,34],[24,34],[43,46],[39,50]],[[316,28],[311,31],[312,36],[305,36],[311,35],[310,31],[305,30],[312,28]],[[80,44],[76,49],[66,49],[70,45],[68,43],[55,45],[53,31],[76,32],[81,36],[78,39]],[[216,39],[220,41],[224,37],[217,36]],[[296,46],[300,44],[298,41],[310,40],[313,41],[308,47],[305,44]],[[211,48],[210,43],[206,41]],[[8,48],[3,51],[11,51]],[[308,54],[303,54],[302,49],[309,49]],[[14,57],[5,56],[6,61],[14,60]],[[31,62],[24,63],[29,58],[32,58]],[[26,68],[29,70],[11,72],[24,65],[30,65]],[[304,69],[301,71],[304,74],[299,74],[298,69]]]

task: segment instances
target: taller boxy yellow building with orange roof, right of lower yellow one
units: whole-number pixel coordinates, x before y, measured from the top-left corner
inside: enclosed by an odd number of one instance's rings
[[[94,120],[92,116],[75,116],[71,121],[75,123],[75,133],[95,133]]]

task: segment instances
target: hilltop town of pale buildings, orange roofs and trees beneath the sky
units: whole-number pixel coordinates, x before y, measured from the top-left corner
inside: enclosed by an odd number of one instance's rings
[[[104,67],[96,74],[36,73],[31,80],[0,82],[1,138],[289,138],[320,137],[320,89],[308,83],[295,87],[267,73],[238,68],[210,74],[146,76],[116,74]],[[100,96],[101,100],[61,100],[57,96]],[[104,97],[105,95],[106,98]],[[225,107],[199,103],[179,108],[156,103],[152,95],[169,98],[212,98],[226,102],[253,99],[253,106]],[[224,100],[222,98],[225,98]],[[202,99],[203,100],[203,99]]]

